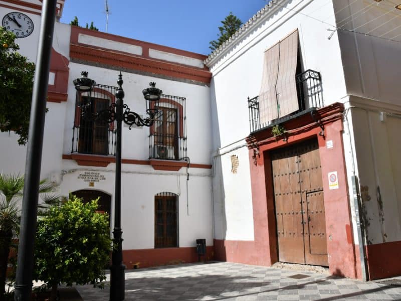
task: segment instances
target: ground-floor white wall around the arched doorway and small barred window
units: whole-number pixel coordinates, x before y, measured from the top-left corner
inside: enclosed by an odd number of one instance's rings
[[[111,195],[111,215],[114,214],[115,164],[106,168],[78,166],[74,161],[63,161],[61,194],[82,189],[94,189]],[[89,187],[78,179],[85,171],[97,171],[106,180]],[[186,168],[179,172],[155,171],[150,166],[122,165],[121,226],[123,249],[154,248],[154,196],[171,192],[178,196],[179,246],[195,246],[197,238],[206,238],[213,244],[211,171],[190,168],[187,181]],[[111,228],[114,220],[111,218]]]

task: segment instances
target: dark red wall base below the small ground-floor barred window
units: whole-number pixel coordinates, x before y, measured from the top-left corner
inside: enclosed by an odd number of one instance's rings
[[[127,269],[198,261],[195,247],[123,250],[122,252],[123,263]],[[206,255],[200,256],[200,261],[213,259],[214,248],[213,246],[207,246]]]

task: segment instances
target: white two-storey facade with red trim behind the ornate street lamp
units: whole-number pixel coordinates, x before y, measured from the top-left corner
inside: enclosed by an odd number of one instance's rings
[[[58,2],[58,18],[64,1]],[[2,1],[2,18],[18,12],[29,17],[31,35],[19,38],[20,52],[36,60],[41,1]],[[123,257],[127,268],[197,261],[196,239],[206,239],[213,254],[211,201],[210,78],[206,56],[95,32],[56,22],[41,178],[89,201],[100,197],[99,211],[111,216],[115,181],[114,124],[80,118],[81,100],[73,80],[81,71],[96,81],[96,109],[115,101],[120,71],[124,103],[147,117],[142,90],[149,82],[163,91],[152,127],[123,127]],[[24,173],[26,147],[13,133],[1,133],[5,174]]]

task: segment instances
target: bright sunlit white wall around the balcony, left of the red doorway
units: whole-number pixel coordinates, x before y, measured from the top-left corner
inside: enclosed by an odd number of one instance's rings
[[[337,36],[330,40],[327,26],[306,17],[316,12],[334,23],[331,5],[318,1],[278,1],[273,14],[237,39],[209,63],[213,73],[211,106],[213,147],[225,148],[250,133],[247,97],[259,94],[264,64],[264,51],[298,29],[303,70],[321,73],[324,105],[344,102],[346,95]],[[297,13],[298,12],[298,13]],[[256,21],[255,21],[256,22]],[[244,140],[242,140],[244,141]],[[230,148],[230,147],[228,147]],[[215,167],[214,202],[216,237],[230,240],[253,240],[252,196],[249,155],[246,147],[236,150],[244,169],[231,173],[230,156],[219,158]],[[241,165],[241,164],[240,164]]]

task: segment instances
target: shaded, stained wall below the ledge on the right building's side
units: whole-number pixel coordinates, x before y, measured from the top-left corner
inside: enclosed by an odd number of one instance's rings
[[[401,107],[352,97],[350,101],[358,162],[362,218],[368,243],[401,239],[399,128]],[[381,117],[381,113],[383,112]],[[381,121],[382,119],[382,121]]]

